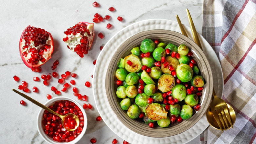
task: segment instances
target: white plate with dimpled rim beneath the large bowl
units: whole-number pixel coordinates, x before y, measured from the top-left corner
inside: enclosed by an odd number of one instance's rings
[[[190,28],[184,26],[189,38],[192,37]],[[133,23],[122,30],[118,31],[110,40],[106,43],[102,51],[100,52],[96,66],[93,74],[93,95],[96,103],[96,108],[106,123],[106,125],[119,137],[125,141],[133,144],[183,144],[191,141],[199,134],[201,134],[208,126],[209,123],[206,119],[206,115],[203,117],[190,129],[187,131],[177,134],[170,137],[164,138],[154,138],[147,137],[144,135],[137,134],[127,128],[122,122],[117,118],[115,113],[108,103],[106,90],[105,90],[105,77],[108,68],[108,63],[110,62],[112,56],[114,55],[117,48],[129,37],[147,30],[152,29],[166,29],[172,30],[181,33],[178,23],[166,19],[148,19]],[[223,94],[223,74],[221,70],[221,65],[218,60],[217,55],[213,51],[210,44],[199,34],[199,39],[201,41],[203,51],[208,58],[208,61],[211,65],[213,79],[217,81],[213,82],[214,88],[218,97],[221,97]],[[113,46],[114,45],[114,46]],[[103,61],[103,62],[102,62]],[[101,63],[100,63],[101,62]]]

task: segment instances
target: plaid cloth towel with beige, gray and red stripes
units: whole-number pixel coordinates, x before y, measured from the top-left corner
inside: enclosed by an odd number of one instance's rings
[[[211,126],[201,144],[256,144],[256,0],[204,0],[203,37],[223,72],[222,99],[236,112],[234,129]]]

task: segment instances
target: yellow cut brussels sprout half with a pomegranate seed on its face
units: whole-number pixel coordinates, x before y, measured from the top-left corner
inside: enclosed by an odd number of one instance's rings
[[[127,60],[130,60],[132,62],[132,65],[127,64]],[[142,64],[138,56],[130,54],[124,58],[124,68],[128,72],[139,72],[141,69]]]

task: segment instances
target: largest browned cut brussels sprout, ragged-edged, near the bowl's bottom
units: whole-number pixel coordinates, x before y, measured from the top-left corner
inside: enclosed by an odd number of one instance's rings
[[[167,118],[167,113],[159,103],[151,103],[145,107],[145,115],[151,120]]]

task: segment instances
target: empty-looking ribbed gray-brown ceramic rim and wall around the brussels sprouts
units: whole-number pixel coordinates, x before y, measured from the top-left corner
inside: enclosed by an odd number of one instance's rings
[[[130,54],[130,50],[139,46],[143,39],[157,39],[160,42],[164,43],[173,43],[177,46],[181,44],[186,44],[189,49],[193,52],[193,59],[197,61],[197,65],[201,72],[201,75],[205,79],[205,85],[202,92],[202,96],[200,97],[199,104],[201,108],[197,111],[190,119],[183,120],[181,123],[175,123],[170,125],[168,128],[161,128],[157,126],[155,123],[155,128],[150,128],[147,124],[145,124],[141,119],[131,119],[127,115],[127,111],[121,109],[120,101],[116,96],[117,85],[115,84],[117,78],[115,77],[115,72],[117,70],[117,63],[120,58],[124,58],[125,56]],[[210,68],[210,64],[204,55],[203,51],[189,38],[186,36],[169,30],[148,30],[140,32],[129,39],[127,39],[123,44],[115,52],[114,56],[111,59],[111,62],[108,66],[107,74],[106,74],[106,94],[110,106],[114,113],[117,115],[118,119],[129,129],[132,131],[149,136],[149,137],[169,137],[176,134],[180,134],[189,128],[191,128],[194,124],[196,124],[203,114],[206,112],[212,97],[213,90],[213,77],[212,71]]]

